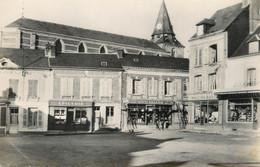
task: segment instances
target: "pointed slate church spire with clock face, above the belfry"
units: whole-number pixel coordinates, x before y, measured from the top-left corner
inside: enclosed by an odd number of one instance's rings
[[[164,0],[162,1],[162,5],[159,11],[159,15],[152,36],[159,35],[159,34],[170,34],[172,36],[175,36],[172,30],[171,21]]]

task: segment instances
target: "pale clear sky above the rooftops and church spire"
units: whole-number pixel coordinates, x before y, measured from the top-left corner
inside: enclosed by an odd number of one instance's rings
[[[165,0],[177,39],[189,52],[196,23],[242,0]],[[151,39],[162,0],[0,0],[0,28],[22,17]]]

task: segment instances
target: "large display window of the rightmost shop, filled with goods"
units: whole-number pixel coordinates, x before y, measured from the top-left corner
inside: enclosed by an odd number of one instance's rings
[[[251,99],[230,100],[228,102],[229,122],[252,122]]]

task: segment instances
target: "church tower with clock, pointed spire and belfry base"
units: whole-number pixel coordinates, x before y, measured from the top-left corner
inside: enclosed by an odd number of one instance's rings
[[[164,0],[152,34],[152,41],[173,57],[184,57],[184,46],[176,39]]]

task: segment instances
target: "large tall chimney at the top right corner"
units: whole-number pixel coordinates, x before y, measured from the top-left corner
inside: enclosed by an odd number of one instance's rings
[[[260,25],[260,0],[249,0],[249,28],[252,34]]]

